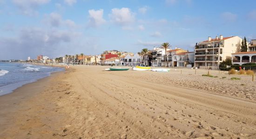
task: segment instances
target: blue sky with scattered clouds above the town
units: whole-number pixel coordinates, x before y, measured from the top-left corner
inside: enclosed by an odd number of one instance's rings
[[[0,0],[0,60],[256,39],[256,0]]]

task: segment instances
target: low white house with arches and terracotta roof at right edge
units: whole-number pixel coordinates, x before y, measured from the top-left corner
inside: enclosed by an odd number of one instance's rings
[[[232,64],[256,63],[256,51],[236,52],[232,54]]]

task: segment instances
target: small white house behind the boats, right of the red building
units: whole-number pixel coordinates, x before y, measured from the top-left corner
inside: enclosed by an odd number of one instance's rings
[[[124,57],[123,64],[124,66],[141,66],[142,60],[139,54],[131,56],[130,54]]]

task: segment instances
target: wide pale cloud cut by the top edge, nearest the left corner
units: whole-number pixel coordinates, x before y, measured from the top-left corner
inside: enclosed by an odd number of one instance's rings
[[[19,8],[21,13],[26,15],[34,15],[35,9],[43,4],[47,4],[51,0],[13,0],[13,4]]]

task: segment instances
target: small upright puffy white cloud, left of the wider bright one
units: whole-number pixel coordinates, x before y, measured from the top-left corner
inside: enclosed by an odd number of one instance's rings
[[[97,27],[106,22],[106,20],[103,19],[103,9],[100,9],[98,11],[95,11],[94,9],[92,9],[92,10],[89,10],[88,12],[89,12],[88,26]]]

